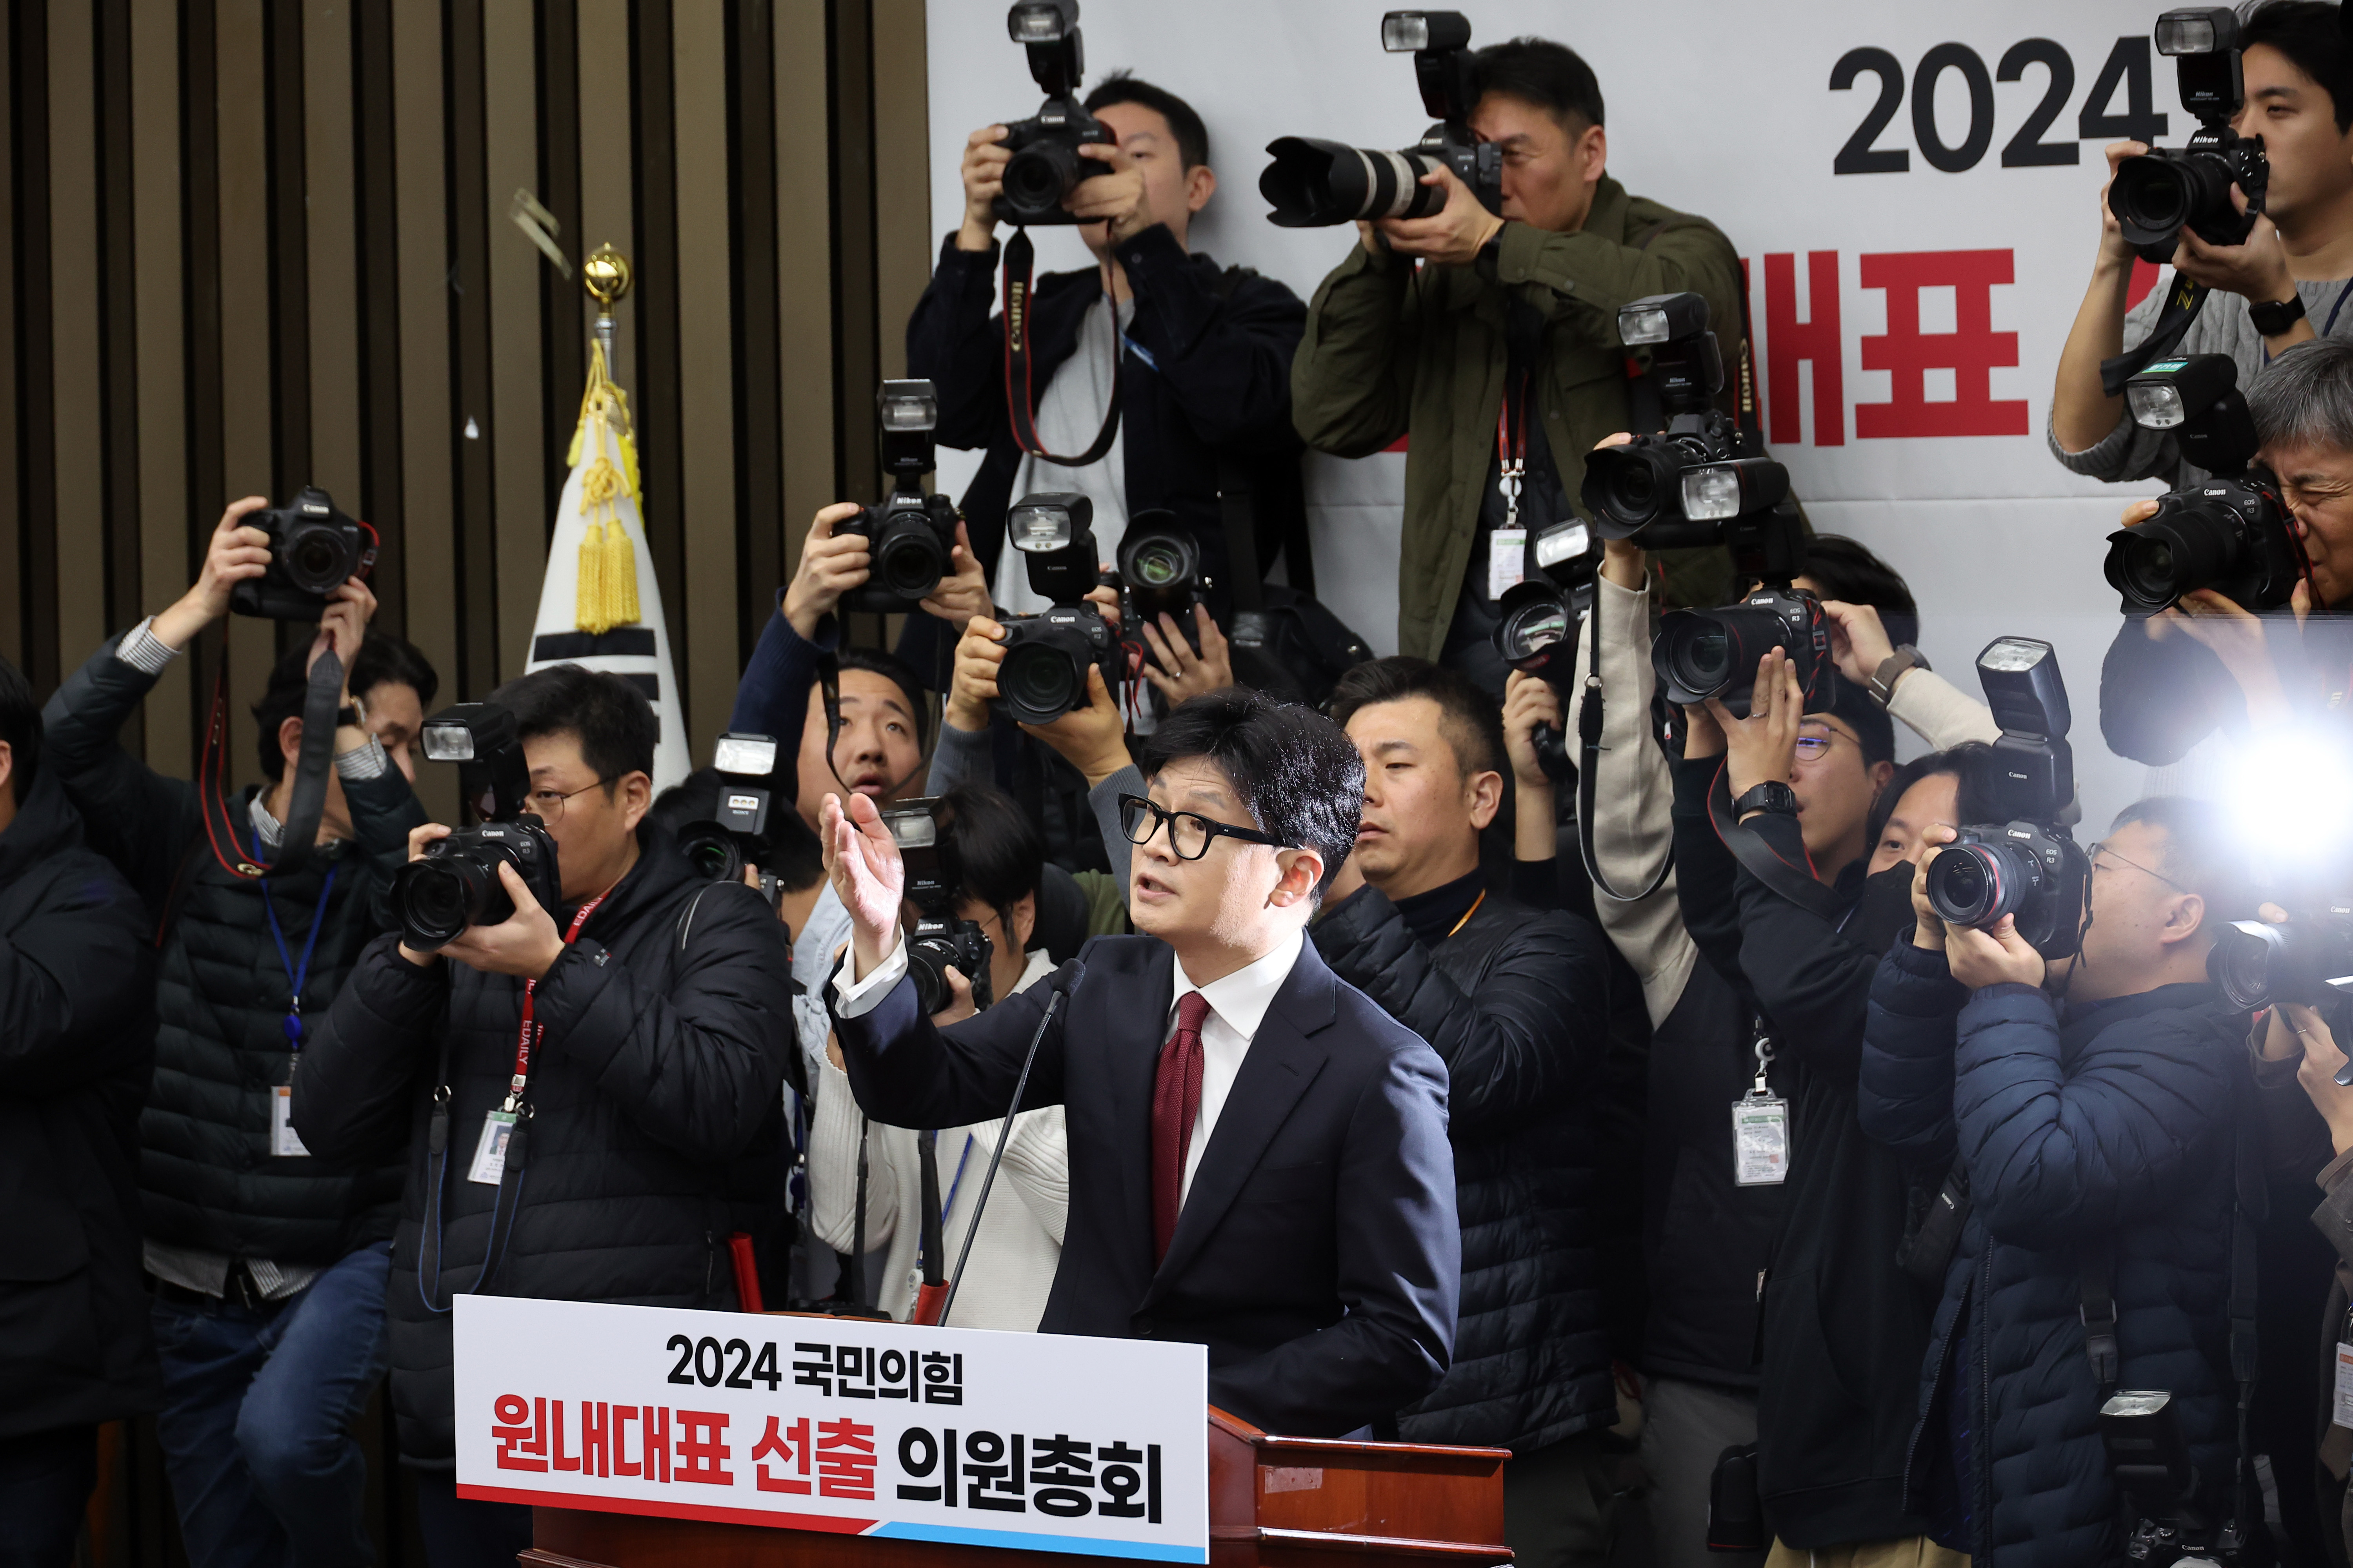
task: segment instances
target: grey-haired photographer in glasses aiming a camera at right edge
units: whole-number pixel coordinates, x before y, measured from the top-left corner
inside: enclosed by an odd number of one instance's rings
[[[2289,348],[2245,400],[2207,355],[2153,364],[2127,397],[2214,477],[2111,534],[2129,618],[2099,677],[2108,750],[2167,766],[2214,731],[2329,722],[2353,679],[2353,341]]]

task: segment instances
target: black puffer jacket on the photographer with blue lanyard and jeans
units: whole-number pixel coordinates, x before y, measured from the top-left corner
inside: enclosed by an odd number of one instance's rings
[[[172,905],[174,882],[188,879],[155,969],[155,1086],[139,1119],[146,1234],[231,1258],[329,1265],[391,1234],[400,1168],[318,1150],[271,1157],[271,1088],[294,1063],[285,1032],[292,987],[264,898],[299,961],[334,872],[301,994],[304,1018],[325,1018],[384,929],[384,891],[426,813],[398,771],[346,783],[353,839],[320,846],[308,867],[268,889],[235,877],[205,844],[195,785],[155,773],[115,741],[153,684],[108,642],[42,712],[42,764],[82,813],[89,846],[144,898],[148,931]],[[228,806],[240,830],[249,795]]]

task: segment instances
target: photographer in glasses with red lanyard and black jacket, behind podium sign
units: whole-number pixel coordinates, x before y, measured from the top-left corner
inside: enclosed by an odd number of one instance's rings
[[[576,665],[435,715],[426,750],[482,820],[409,835],[402,926],[296,1079],[320,1154],[405,1150],[393,1410],[438,1566],[529,1544],[529,1509],[452,1486],[452,1298],[734,1307],[729,1161],[781,1140],[784,926],[642,832],[656,733]]]

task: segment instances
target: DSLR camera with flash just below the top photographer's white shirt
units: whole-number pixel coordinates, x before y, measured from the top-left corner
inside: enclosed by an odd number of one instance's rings
[[[1016,724],[1052,724],[1087,705],[1087,670],[1118,691],[1125,658],[1104,611],[1087,604],[1101,576],[1094,559],[1094,503],[1078,491],[1021,496],[1005,517],[1005,538],[1024,555],[1031,592],[1052,599],[1035,616],[1007,616],[998,705]]]

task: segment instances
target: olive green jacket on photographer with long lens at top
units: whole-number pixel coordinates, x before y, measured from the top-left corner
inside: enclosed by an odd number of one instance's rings
[[[1649,244],[1642,244],[1642,242]],[[1546,374],[1537,388],[1544,435],[1574,498],[1586,451],[1626,428],[1628,360],[1617,310],[1645,294],[1704,294],[1739,374],[1741,263],[1706,219],[1626,195],[1602,176],[1574,235],[1504,223],[1487,263],[1417,268],[1405,256],[1348,247],[1315,289],[1308,331],[1292,360],[1292,421],[1308,447],[1365,456],[1412,430],[1405,454],[1405,543],[1398,555],[1398,651],[1438,658],[1478,538],[1480,491],[1494,463],[1504,407],[1504,308],[1515,292],[1546,320]],[[1671,592],[1715,604],[1732,588],[1722,550],[1678,552]]]

